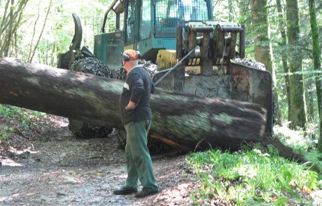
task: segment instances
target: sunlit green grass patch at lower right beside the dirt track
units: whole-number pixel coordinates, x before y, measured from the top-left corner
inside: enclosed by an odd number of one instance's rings
[[[309,193],[321,186],[307,165],[277,156],[276,149],[209,150],[190,154],[188,165],[200,183],[193,204],[221,198],[236,205],[311,205]]]

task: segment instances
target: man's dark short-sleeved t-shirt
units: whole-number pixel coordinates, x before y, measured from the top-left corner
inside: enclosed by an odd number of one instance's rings
[[[150,96],[153,91],[153,82],[148,72],[141,65],[132,68],[127,75],[123,92],[120,96],[120,112],[123,125],[152,118]],[[129,101],[134,102],[136,105],[131,112],[125,111]]]

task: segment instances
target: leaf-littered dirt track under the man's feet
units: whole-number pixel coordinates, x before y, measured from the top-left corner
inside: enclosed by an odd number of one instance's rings
[[[182,154],[152,155],[160,193],[116,196],[127,177],[125,152],[111,135],[77,140],[68,120],[45,115],[29,130],[15,128],[0,144],[0,205],[191,205],[197,187]],[[141,186],[139,186],[141,189]]]

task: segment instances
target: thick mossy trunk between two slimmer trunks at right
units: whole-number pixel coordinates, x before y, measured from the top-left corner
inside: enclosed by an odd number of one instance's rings
[[[302,52],[299,45],[300,26],[296,0],[286,0],[286,23],[288,36],[288,61],[290,68],[290,128],[305,128],[305,106],[302,74]]]

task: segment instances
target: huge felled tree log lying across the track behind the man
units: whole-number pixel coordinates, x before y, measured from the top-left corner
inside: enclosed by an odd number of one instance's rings
[[[123,128],[119,97],[124,82],[18,59],[0,58],[0,103]],[[182,150],[197,145],[239,147],[263,140],[260,105],[156,89],[151,97],[151,138]]]

